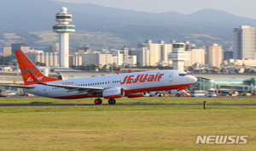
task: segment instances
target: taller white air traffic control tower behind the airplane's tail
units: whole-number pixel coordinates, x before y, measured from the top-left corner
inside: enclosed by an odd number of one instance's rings
[[[59,24],[53,26],[53,31],[60,34],[60,67],[69,68],[69,32],[75,31],[75,25],[69,25],[72,14],[67,14],[65,7],[55,16]]]

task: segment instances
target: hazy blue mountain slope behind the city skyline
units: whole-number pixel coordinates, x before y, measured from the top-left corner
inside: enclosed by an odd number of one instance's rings
[[[188,40],[198,45],[217,42],[224,48],[231,45],[233,28],[256,26],[256,20],[239,17],[220,10],[202,9],[193,14],[166,12],[160,14],[102,7],[90,3],[61,3],[54,0],[2,0],[0,5],[0,44],[8,39],[3,33],[20,32],[31,45],[42,46],[56,42],[52,34],[55,14],[65,6],[73,14],[76,33],[71,34],[71,47],[90,43],[98,47],[115,44],[137,45],[146,39],[166,42]],[[47,37],[44,32],[48,31]],[[79,33],[83,33],[80,34]],[[105,33],[99,34],[99,33]],[[90,37],[95,38],[90,38]],[[99,37],[100,36],[100,37]],[[97,38],[96,38],[97,37]],[[42,41],[43,39],[43,41]],[[102,40],[103,39],[103,40]],[[48,40],[48,41],[47,41]],[[50,41],[49,41],[50,40]],[[93,40],[93,41],[92,41]],[[103,45],[99,45],[104,43]]]

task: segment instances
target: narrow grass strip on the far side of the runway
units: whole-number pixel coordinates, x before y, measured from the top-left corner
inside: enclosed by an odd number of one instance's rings
[[[82,99],[55,99],[55,98],[0,98],[0,103],[89,103],[94,104],[95,98]],[[108,99],[102,99],[103,104],[108,104]],[[208,104],[222,103],[256,103],[256,98],[169,98],[169,97],[146,97],[146,98],[116,98],[117,104],[145,104],[145,103],[193,103]]]

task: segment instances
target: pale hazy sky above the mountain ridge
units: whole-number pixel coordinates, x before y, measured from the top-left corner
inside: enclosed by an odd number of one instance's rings
[[[255,0],[56,0],[67,3],[95,3],[112,8],[162,13],[176,11],[191,14],[203,8],[224,10],[230,14],[256,19]]]

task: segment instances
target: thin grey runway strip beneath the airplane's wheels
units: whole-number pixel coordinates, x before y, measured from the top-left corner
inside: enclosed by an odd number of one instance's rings
[[[147,103],[147,104],[101,104],[94,103],[0,103],[0,107],[72,107],[72,106],[203,106],[203,103]],[[207,104],[209,106],[256,106],[256,103],[219,103]]]

